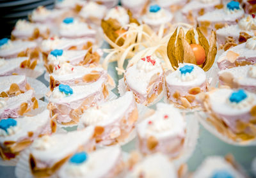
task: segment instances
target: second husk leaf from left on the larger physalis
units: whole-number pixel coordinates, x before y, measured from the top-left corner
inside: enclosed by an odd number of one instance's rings
[[[180,28],[179,35],[177,36],[177,41],[175,44],[175,59],[179,63],[183,63],[183,57],[184,57],[184,50],[182,46],[182,38],[184,38],[184,31],[182,28]]]

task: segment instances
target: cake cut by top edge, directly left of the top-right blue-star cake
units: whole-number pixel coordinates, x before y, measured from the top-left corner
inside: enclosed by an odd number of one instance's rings
[[[189,24],[196,24],[196,18],[209,11],[214,11],[222,4],[220,0],[193,0],[187,3],[181,10],[182,15]]]

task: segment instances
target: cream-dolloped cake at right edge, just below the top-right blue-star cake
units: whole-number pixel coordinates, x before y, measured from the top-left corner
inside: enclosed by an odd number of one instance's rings
[[[232,38],[234,43],[244,42],[240,39],[240,34],[246,33],[250,36],[256,34],[256,19],[255,15],[246,15],[243,19],[239,20],[238,24],[223,27],[216,31],[216,38],[219,45],[225,45],[227,38]]]

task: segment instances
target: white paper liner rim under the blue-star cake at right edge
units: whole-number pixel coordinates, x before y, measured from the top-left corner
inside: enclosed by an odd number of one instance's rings
[[[223,135],[218,130],[216,130],[216,128],[211,124],[211,122],[207,121],[208,115],[205,114],[205,112],[197,112],[195,115],[196,115],[196,117],[198,117],[200,124],[202,124],[202,126],[204,126],[204,128],[206,130],[208,130],[210,133],[212,133],[212,135],[219,138],[223,142],[226,142],[227,144],[237,145],[237,146],[256,145],[256,139],[239,142],[236,140],[232,140],[231,138],[227,137],[226,135]]]

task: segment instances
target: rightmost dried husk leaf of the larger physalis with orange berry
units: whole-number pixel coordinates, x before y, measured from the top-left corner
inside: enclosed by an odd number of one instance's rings
[[[216,35],[214,33],[214,31],[212,31],[210,39],[210,47],[209,47],[209,52],[206,56],[205,62],[204,62],[204,66],[203,66],[203,70],[207,71],[211,68],[212,64],[214,63],[215,60],[215,56],[217,54],[217,45],[216,45]],[[207,42],[208,45],[208,42]]]

